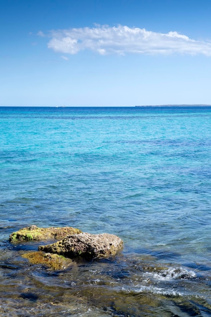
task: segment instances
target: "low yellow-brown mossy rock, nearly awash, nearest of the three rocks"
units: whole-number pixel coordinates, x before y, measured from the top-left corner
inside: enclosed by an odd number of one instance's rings
[[[27,252],[23,254],[22,257],[28,259],[32,264],[46,265],[51,270],[63,270],[73,263],[71,259],[65,258],[62,255],[45,253],[41,251]]]

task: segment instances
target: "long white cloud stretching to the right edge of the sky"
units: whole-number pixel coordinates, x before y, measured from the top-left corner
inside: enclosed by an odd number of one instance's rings
[[[38,32],[44,36],[43,32]],[[43,34],[43,35],[41,35]],[[178,32],[157,33],[128,26],[107,25],[57,30],[51,32],[48,48],[55,52],[76,54],[91,50],[101,55],[137,54],[203,54],[211,56],[211,44],[197,41]]]

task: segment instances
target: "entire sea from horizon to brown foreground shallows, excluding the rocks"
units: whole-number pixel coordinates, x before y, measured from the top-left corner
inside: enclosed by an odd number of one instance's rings
[[[211,106],[0,107],[0,315],[211,316]],[[30,225],[118,235],[49,270]]]

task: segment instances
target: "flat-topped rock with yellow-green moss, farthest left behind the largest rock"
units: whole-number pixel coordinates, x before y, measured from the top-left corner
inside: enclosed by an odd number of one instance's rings
[[[31,225],[27,228],[22,228],[16,232],[11,233],[10,241],[30,241],[30,240],[61,240],[66,235],[78,234],[82,231],[72,227],[50,227],[50,228],[38,228],[35,225]]]

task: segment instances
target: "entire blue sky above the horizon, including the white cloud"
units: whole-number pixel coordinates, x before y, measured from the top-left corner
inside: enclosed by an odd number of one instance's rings
[[[0,0],[0,106],[211,104],[210,0]]]

